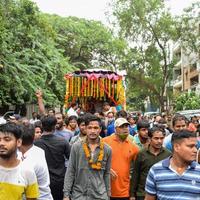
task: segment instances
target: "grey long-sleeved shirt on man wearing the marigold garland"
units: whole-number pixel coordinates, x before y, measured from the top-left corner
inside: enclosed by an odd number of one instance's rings
[[[99,146],[93,159],[97,160]],[[92,169],[83,150],[83,142],[72,145],[69,166],[64,181],[64,197],[71,200],[108,200],[110,194],[111,149],[104,144],[104,157],[100,170]]]

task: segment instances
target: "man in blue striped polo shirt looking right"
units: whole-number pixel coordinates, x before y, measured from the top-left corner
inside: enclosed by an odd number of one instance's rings
[[[200,200],[197,139],[187,130],[172,135],[173,154],[150,169],[145,200]]]

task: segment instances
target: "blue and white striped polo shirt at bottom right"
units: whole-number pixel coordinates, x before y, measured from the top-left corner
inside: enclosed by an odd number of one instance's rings
[[[195,161],[180,175],[167,158],[151,167],[145,191],[157,200],[200,200],[200,165]]]

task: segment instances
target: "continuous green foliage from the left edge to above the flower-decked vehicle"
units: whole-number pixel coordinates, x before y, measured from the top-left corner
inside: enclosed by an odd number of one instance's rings
[[[100,22],[62,18],[39,11],[29,0],[0,1],[0,106],[64,103],[64,75],[95,66],[116,68],[126,42]],[[75,67],[76,66],[76,67]]]

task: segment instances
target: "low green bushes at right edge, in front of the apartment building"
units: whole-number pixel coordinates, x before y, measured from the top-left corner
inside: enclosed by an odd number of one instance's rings
[[[175,99],[175,111],[200,108],[200,96],[194,92],[185,93]]]

